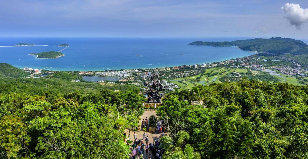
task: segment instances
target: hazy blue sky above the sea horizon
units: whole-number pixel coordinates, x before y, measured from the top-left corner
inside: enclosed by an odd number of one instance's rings
[[[302,12],[294,17],[286,3]],[[2,0],[0,37],[307,39],[305,8],[307,0]]]

